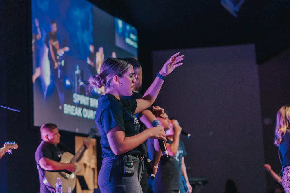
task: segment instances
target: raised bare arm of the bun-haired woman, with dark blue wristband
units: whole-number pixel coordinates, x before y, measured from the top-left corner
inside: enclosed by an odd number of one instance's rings
[[[183,55],[179,55],[180,52],[177,52],[173,56],[171,56],[167,62],[163,65],[162,69],[157,74],[157,77],[151,84],[151,86],[147,89],[144,96],[141,99],[137,99],[137,108],[134,112],[139,113],[144,109],[147,109],[149,106],[153,104],[157,95],[161,89],[161,86],[165,80],[165,77],[170,74],[176,67],[182,65],[183,63],[179,63],[183,60]]]

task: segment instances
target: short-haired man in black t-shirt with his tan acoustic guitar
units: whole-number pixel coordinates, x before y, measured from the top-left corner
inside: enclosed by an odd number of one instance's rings
[[[42,141],[35,152],[40,193],[55,192],[57,177],[61,177],[64,193],[68,191],[68,187],[73,190],[76,185],[76,174],[81,170],[81,166],[76,162],[90,146],[89,139],[84,141],[84,145],[76,153],[77,156],[74,156],[66,145],[60,143],[60,134],[55,124],[42,125],[40,134]]]

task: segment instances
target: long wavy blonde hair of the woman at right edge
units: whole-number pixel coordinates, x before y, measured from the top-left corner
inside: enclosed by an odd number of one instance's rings
[[[274,144],[280,146],[282,136],[290,129],[290,106],[282,106],[277,112]]]

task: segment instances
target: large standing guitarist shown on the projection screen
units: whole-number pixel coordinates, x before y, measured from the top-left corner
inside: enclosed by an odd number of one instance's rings
[[[45,44],[48,47],[48,58],[50,63],[50,76],[52,82],[54,82],[59,95],[59,109],[62,109],[62,104],[64,103],[64,93],[60,92],[63,90],[60,83],[61,74],[61,56],[64,52],[69,51],[69,47],[65,46],[60,48],[60,37],[57,34],[57,25],[54,20],[50,24],[51,31],[46,34]]]

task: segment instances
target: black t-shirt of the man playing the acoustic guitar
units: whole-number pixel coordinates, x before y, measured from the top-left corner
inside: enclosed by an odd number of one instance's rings
[[[66,147],[64,144],[57,144],[56,146],[54,144],[50,144],[45,141],[41,141],[39,146],[37,147],[35,151],[35,161],[36,161],[36,166],[38,169],[38,174],[39,174],[39,182],[40,182],[40,192],[50,192],[51,188],[44,185],[43,179],[45,177],[45,172],[43,168],[40,167],[39,165],[39,160],[42,157],[46,157],[48,159],[51,159],[53,161],[60,161],[61,156],[64,152],[70,152],[73,154],[73,152]]]

